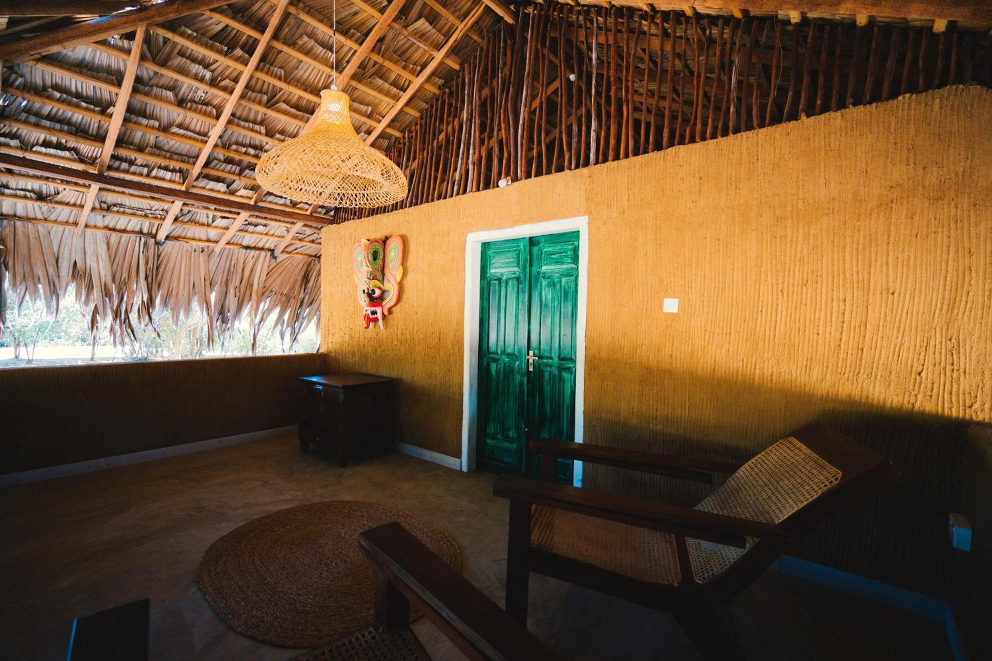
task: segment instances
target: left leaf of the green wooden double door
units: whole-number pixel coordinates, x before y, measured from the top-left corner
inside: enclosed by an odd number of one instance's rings
[[[490,470],[524,463],[529,262],[526,238],[482,245],[478,436]]]

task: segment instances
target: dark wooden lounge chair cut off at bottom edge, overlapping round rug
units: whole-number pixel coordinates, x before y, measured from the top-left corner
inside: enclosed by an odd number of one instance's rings
[[[410,630],[410,604],[473,661],[556,661],[527,628],[397,522],[358,543],[376,566],[376,623],[297,657],[306,661],[430,661]]]

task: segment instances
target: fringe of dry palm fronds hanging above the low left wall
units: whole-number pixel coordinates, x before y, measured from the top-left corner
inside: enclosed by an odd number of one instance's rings
[[[93,335],[108,331],[115,343],[152,326],[157,310],[173,323],[194,310],[207,322],[209,343],[222,341],[243,316],[257,337],[273,320],[296,341],[319,314],[320,263],[300,255],[220,250],[153,237],[0,220],[0,296],[20,305],[30,299],[50,314],[74,285],[79,310]],[[6,305],[0,298],[0,331]]]

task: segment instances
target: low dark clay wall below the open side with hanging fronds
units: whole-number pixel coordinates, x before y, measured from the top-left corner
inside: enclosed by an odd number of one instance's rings
[[[322,353],[0,370],[0,474],[296,424]]]

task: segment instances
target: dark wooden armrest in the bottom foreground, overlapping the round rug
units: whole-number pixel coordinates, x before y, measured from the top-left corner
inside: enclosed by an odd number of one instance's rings
[[[358,544],[389,583],[470,659],[560,659],[398,522],[366,530]],[[403,621],[407,621],[406,608]]]

